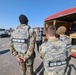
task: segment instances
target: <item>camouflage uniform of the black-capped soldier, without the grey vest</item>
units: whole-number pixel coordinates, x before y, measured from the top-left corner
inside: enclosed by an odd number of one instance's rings
[[[17,28],[21,28],[22,26],[25,26],[25,24],[21,24]],[[10,39],[10,51],[11,53],[17,58],[18,56],[23,57],[26,59],[25,62],[19,63],[20,66],[20,73],[21,75],[33,75],[33,63],[34,63],[34,47],[35,47],[35,37],[36,34],[33,31],[32,28],[29,29],[29,34],[30,34],[30,42],[29,42],[29,48],[26,53],[20,53],[17,52],[14,49],[13,42],[12,42],[12,37]]]

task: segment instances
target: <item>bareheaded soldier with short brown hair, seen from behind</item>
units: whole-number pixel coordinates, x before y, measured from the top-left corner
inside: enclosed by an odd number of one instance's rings
[[[47,41],[40,47],[43,58],[44,75],[64,75],[66,68],[66,44],[56,38],[56,28],[51,25],[46,29]]]

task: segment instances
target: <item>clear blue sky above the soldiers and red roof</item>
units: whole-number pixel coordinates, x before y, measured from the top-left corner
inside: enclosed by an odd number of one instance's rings
[[[0,0],[0,28],[15,28],[25,14],[31,27],[42,27],[48,16],[76,7],[76,0]]]

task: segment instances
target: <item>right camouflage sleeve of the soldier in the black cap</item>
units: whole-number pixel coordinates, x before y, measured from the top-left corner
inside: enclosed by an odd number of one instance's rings
[[[36,38],[36,33],[33,31],[33,33],[30,36],[29,48],[27,50],[27,53],[24,55],[25,59],[28,59],[32,55],[32,53],[34,52],[35,38]]]

